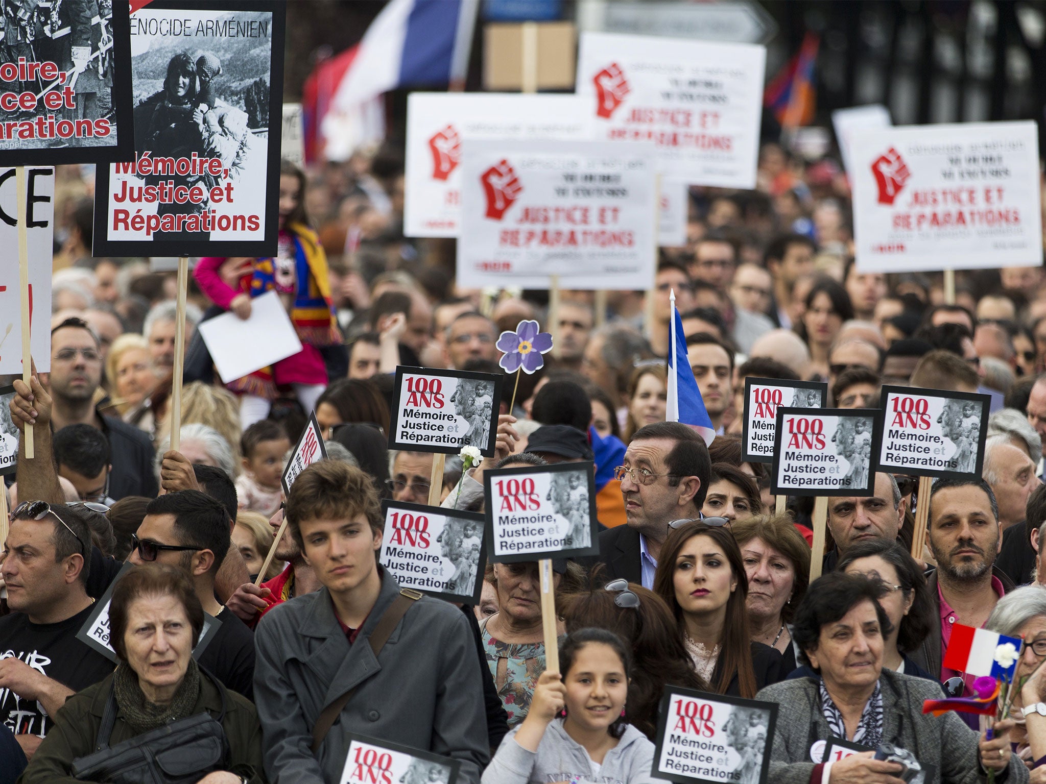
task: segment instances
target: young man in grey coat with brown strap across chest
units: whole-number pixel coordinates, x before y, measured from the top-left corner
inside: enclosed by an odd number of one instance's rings
[[[255,631],[269,780],[337,784],[351,734],[460,760],[458,780],[478,784],[490,751],[473,633],[452,604],[401,598],[418,595],[378,566],[383,517],[369,477],[340,461],[314,463],[286,511],[322,587],[273,608]],[[406,614],[376,658],[371,637],[401,605]],[[350,689],[314,753],[324,709]]]

